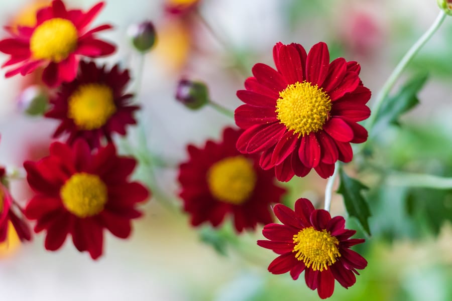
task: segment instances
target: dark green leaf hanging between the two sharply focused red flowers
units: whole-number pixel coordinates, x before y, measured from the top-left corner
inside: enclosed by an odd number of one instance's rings
[[[371,214],[369,206],[361,194],[362,190],[368,188],[361,182],[347,176],[342,168],[339,170],[339,176],[341,178],[341,185],[337,189],[337,193],[343,195],[349,216],[356,217],[364,230],[370,235],[368,218]]]

